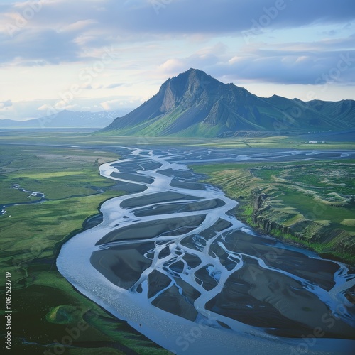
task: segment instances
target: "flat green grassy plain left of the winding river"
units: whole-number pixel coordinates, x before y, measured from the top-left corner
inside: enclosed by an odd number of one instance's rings
[[[49,146],[0,146],[0,275],[11,273],[11,349],[16,354],[166,354],[72,288],[58,273],[60,246],[99,204],[121,195],[99,175],[116,153]],[[48,200],[13,189],[42,192]],[[80,251],[78,251],[80,252]],[[4,287],[1,287],[4,300]],[[2,307],[1,307],[2,308]],[[4,317],[4,311],[1,311]]]

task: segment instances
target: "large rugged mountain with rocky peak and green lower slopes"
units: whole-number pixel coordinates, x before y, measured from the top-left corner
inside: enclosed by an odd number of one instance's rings
[[[355,102],[302,102],[257,97],[190,69],[162,84],[151,99],[98,133],[119,136],[234,136],[241,131],[340,131],[354,129]]]

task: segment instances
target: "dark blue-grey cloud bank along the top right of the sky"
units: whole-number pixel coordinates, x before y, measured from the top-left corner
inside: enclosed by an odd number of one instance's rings
[[[270,28],[292,28],[354,19],[349,11],[354,6],[351,0],[344,0],[342,6],[333,0],[173,0],[155,3],[161,4],[158,13],[154,1],[146,1],[146,6],[127,7],[125,11],[118,4],[110,2],[110,6],[121,9],[117,19],[122,28],[146,33],[226,34],[248,30],[253,21],[267,23]],[[276,9],[276,3],[282,5]]]

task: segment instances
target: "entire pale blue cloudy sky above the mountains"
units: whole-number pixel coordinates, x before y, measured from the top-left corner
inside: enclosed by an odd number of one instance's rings
[[[1,0],[0,119],[120,116],[190,67],[260,97],[355,99],[355,1]]]

